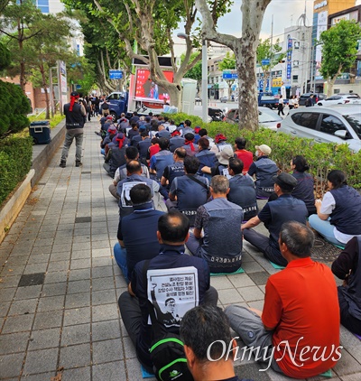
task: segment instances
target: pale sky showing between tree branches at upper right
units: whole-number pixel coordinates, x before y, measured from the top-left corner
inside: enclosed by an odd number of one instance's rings
[[[256,1],[256,0],[254,0]],[[273,16],[273,41],[277,38],[283,39],[284,29],[298,24],[301,14],[306,9],[306,25],[312,25],[314,0],[272,0],[264,13],[264,21],[260,38],[262,40],[271,36],[272,16]],[[232,10],[218,21],[218,31],[220,33],[228,33],[240,37],[242,29],[240,27],[241,0],[235,0]],[[356,0],[356,5],[361,5],[361,0]],[[178,32],[178,31],[177,31]],[[184,32],[184,31],[179,31]],[[175,42],[184,43],[179,39]],[[181,49],[181,48],[180,48]],[[178,50],[178,49],[177,49]]]

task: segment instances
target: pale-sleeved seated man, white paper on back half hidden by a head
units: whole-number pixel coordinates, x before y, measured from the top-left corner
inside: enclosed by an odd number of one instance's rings
[[[132,200],[129,192],[136,184],[145,184],[152,191],[153,203],[157,207],[159,203],[159,184],[157,181],[142,176],[142,166],[136,160],[126,163],[126,178],[116,185],[116,194],[119,198],[119,218],[123,218],[133,212]]]

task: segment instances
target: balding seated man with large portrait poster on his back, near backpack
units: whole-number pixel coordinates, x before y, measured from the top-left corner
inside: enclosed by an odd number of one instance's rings
[[[171,293],[174,321],[167,320],[167,330],[179,333],[179,321],[184,313],[198,304],[209,303],[217,305],[218,293],[209,285],[209,269],[205,261],[193,256],[184,255],[184,243],[189,237],[190,222],[179,211],[171,210],[162,215],[158,221],[157,237],[162,246],[159,256],[150,260],[144,277],[144,261],[135,265],[131,275],[128,291],[119,298],[119,310],[125,329],[133,341],[137,357],[148,371],[153,371],[149,348],[152,341],[152,326],[149,324],[148,303],[155,301],[166,314],[166,304],[170,296],[163,292],[162,283],[170,283],[170,278],[187,276],[188,284],[195,292],[183,298],[183,291]],[[144,279],[145,278],[145,279]],[[198,279],[198,282],[195,282]],[[151,290],[151,293],[148,293]],[[150,295],[152,294],[152,295]],[[197,294],[199,298],[197,299]],[[136,296],[136,297],[134,297]],[[153,297],[152,297],[153,296]],[[168,301],[166,303],[166,301]],[[174,311],[175,310],[175,311]],[[171,312],[171,311],[170,311]],[[177,316],[178,315],[178,316]],[[163,321],[160,321],[163,323]],[[169,323],[169,324],[168,324]],[[163,323],[164,325],[164,323]],[[164,325],[165,327],[165,325]]]

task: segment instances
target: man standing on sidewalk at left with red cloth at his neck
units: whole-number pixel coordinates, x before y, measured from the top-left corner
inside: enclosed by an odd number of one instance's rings
[[[64,115],[67,132],[61,152],[60,167],[65,168],[67,166],[69,148],[74,138],[76,144],[75,166],[79,167],[81,165],[84,116],[87,116],[87,111],[84,106],[79,104],[79,93],[77,91],[70,94],[70,102],[64,105]]]

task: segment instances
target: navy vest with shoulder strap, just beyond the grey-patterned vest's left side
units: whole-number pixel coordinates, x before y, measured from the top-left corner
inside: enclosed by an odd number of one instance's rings
[[[177,191],[177,209],[190,219],[190,226],[194,226],[197,209],[207,202],[208,196],[208,180],[197,175],[196,178],[207,185],[207,188],[190,179],[188,175],[174,179]]]

